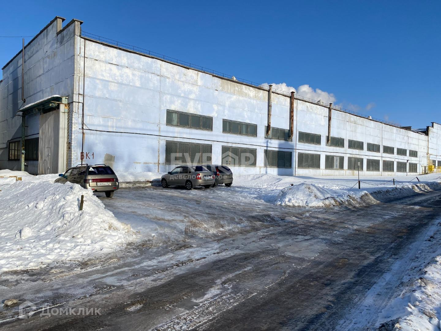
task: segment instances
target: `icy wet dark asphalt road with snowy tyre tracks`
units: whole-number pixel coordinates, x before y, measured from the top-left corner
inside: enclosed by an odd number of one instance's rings
[[[10,319],[0,329],[335,330],[441,214],[441,192],[328,209],[280,207],[258,194],[152,187],[102,198],[122,221],[134,214],[137,222],[159,220],[168,211],[162,221],[179,216],[192,226],[179,241],[145,241],[86,263],[3,276],[2,299],[100,308],[101,315],[23,320],[10,309],[0,312]],[[209,212],[194,215],[201,204]],[[204,222],[217,230],[207,232]]]

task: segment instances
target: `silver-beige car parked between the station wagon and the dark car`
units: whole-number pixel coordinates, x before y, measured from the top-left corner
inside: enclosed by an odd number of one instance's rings
[[[214,184],[214,175],[202,165],[179,165],[161,177],[161,185],[184,186],[192,190],[195,186],[210,188]]]

